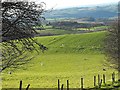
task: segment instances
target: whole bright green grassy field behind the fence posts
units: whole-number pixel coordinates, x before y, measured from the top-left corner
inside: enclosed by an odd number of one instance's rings
[[[104,36],[105,32],[95,32],[37,37],[48,50],[13,71],[5,70],[2,73],[3,88],[18,88],[20,80],[23,80],[23,87],[30,83],[30,88],[57,88],[58,79],[65,86],[69,79],[70,87],[78,88],[81,77],[85,87],[93,87],[93,76],[103,73],[107,81],[111,81],[111,73],[115,70],[104,65]]]

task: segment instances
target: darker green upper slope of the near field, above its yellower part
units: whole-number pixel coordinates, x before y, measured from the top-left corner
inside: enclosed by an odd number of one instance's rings
[[[39,37],[48,47],[46,53],[98,53],[102,50],[105,32]]]

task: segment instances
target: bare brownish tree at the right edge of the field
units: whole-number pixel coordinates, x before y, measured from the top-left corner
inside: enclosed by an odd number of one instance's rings
[[[109,25],[104,50],[107,60],[120,72],[120,22],[116,20]]]

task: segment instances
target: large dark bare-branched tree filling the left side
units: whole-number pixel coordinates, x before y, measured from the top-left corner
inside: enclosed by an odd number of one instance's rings
[[[2,4],[2,36],[1,70],[8,67],[17,67],[29,61],[30,52],[47,49],[34,37],[38,34],[35,26],[42,26],[41,19],[45,3],[35,2],[1,2]]]

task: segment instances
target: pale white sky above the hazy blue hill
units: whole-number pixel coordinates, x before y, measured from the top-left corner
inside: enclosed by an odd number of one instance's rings
[[[78,6],[91,6],[91,5],[100,5],[106,3],[115,3],[120,0],[30,0],[37,3],[45,2],[47,9],[59,9],[67,7],[78,7]]]

